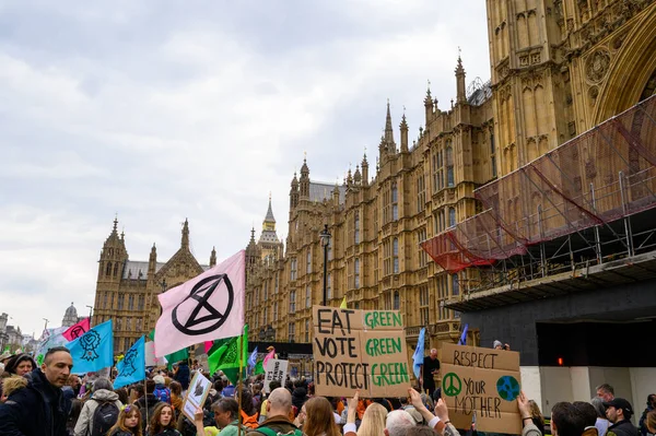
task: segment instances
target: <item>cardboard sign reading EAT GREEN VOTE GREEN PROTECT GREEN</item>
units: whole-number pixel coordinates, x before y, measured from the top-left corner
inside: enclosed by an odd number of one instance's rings
[[[313,307],[317,396],[406,397],[410,370],[398,310]]]

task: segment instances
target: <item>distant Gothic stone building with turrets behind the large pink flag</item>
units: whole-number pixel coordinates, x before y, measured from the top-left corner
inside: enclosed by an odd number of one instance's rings
[[[92,326],[112,319],[114,352],[128,350],[142,334],[154,329],[160,316],[157,295],[213,267],[216,252],[212,249],[210,264],[200,264],[189,249],[189,223],[185,220],[180,248],[165,262],[157,261],[155,245],[148,261],[130,260],[125,234],[118,234],[118,221],[105,240],[98,261]]]

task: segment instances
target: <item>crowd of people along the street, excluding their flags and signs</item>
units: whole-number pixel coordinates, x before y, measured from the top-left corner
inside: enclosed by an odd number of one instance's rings
[[[449,410],[434,388],[440,366],[431,351],[418,389],[403,398],[352,398],[316,396],[312,380],[273,380],[265,393],[265,376],[247,377],[242,391],[222,372],[212,376],[186,361],[149,368],[143,381],[114,389],[113,377],[72,374],[67,347],[50,349],[38,366],[30,354],[3,355],[0,435],[4,436],[401,436],[471,435],[475,426],[456,428]],[[436,361],[436,363],[435,363]],[[423,372],[423,368],[422,368]],[[211,388],[204,403],[190,420],[183,413],[183,398],[196,373],[204,374]],[[427,388],[424,390],[424,387]],[[422,393],[420,393],[420,391]],[[640,427],[631,419],[629,401],[613,397],[602,385],[589,402],[553,405],[550,424],[539,406],[524,393],[517,398],[523,436],[646,436],[656,433],[656,396],[647,399]]]

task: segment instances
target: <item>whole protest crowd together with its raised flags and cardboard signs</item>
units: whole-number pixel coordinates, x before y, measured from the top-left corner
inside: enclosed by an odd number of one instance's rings
[[[214,291],[229,278],[243,293],[243,251],[161,294],[151,341],[141,337],[119,356],[112,320],[45,331],[34,355],[0,355],[0,436],[656,434],[656,394],[636,420],[610,385],[543,416],[520,390],[519,353],[501,341],[467,346],[467,326],[459,344],[441,343],[441,357],[424,355],[422,329],[409,370],[400,313],[348,309],[345,299],[313,308],[313,376],[289,378],[272,346],[259,362],[257,346],[248,357],[243,307],[212,318],[225,307],[225,293]],[[197,318],[197,303],[212,316]],[[207,366],[189,358],[195,344],[204,344]]]

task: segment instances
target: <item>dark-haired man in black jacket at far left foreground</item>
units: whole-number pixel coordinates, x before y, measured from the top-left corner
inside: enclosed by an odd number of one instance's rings
[[[9,396],[0,404],[0,435],[67,436],[67,403],[61,392],[73,360],[65,346],[46,352],[40,368],[32,372],[27,386]]]

